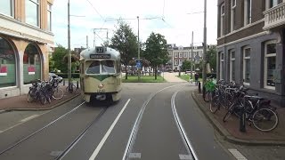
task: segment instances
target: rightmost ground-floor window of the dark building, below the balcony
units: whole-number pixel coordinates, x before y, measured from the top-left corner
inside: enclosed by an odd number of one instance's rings
[[[265,44],[265,88],[275,89],[274,71],[276,69],[276,42]]]

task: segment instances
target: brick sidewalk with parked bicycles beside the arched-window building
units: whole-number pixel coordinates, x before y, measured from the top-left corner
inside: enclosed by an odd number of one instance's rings
[[[12,111],[12,110],[45,110],[56,108],[61,104],[74,99],[78,95],[80,95],[80,91],[77,90],[76,93],[69,93],[65,92],[66,86],[61,86],[64,95],[61,100],[52,100],[51,103],[46,102],[45,105],[42,105],[40,101],[33,101],[28,102],[27,94],[23,94],[20,96],[15,96],[11,98],[1,99],[0,100],[0,113],[5,111]]]

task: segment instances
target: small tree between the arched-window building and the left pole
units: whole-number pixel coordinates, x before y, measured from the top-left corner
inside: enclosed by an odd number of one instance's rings
[[[68,65],[63,61],[64,56],[68,53],[68,50],[65,49],[61,44],[54,49],[53,52],[53,61],[54,61],[54,69],[61,70],[63,73],[68,72]]]

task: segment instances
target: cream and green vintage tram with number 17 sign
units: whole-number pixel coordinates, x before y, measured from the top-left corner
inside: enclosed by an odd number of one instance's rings
[[[81,52],[80,86],[86,102],[118,101],[122,90],[120,53],[102,46]]]

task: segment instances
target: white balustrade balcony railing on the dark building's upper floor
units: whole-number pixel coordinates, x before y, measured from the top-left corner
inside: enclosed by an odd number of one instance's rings
[[[285,25],[285,3],[278,4],[264,12],[265,30]]]

